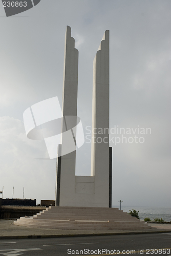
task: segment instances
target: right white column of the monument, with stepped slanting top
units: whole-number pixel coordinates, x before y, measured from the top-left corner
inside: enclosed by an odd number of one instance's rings
[[[95,176],[95,206],[109,207],[109,30],[93,62],[91,176]]]

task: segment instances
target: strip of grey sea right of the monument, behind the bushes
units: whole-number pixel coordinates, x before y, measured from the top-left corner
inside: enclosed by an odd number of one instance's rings
[[[119,208],[120,206],[112,206],[115,208]],[[130,210],[139,210],[138,216],[140,217],[140,220],[143,220],[145,218],[150,218],[152,221],[154,221],[155,218],[163,219],[164,221],[171,221],[171,208],[163,208],[163,207],[145,207],[145,206],[122,206],[121,210],[125,212],[130,212]]]

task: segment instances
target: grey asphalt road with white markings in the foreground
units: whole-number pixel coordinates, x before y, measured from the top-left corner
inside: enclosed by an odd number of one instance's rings
[[[166,250],[163,250],[164,248]],[[111,253],[171,255],[171,233],[0,240],[0,255],[6,256],[72,256]]]

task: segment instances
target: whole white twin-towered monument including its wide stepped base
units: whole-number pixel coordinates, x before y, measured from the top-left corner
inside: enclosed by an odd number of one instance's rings
[[[67,26],[62,138],[58,147],[56,199],[33,217],[15,225],[76,230],[142,230],[151,226],[112,207],[112,148],[109,147],[109,30],[106,30],[93,64],[91,176],[75,176],[78,84],[78,50]],[[98,131],[101,131],[98,133]],[[78,130],[77,130],[78,132]],[[69,153],[71,152],[71,153]],[[67,153],[67,154],[66,154]]]

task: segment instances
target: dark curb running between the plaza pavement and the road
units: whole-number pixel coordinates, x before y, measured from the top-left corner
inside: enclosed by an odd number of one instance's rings
[[[153,233],[169,233],[171,230],[153,230],[153,231],[132,231],[120,233],[93,233],[93,234],[50,234],[50,235],[29,235],[29,236],[4,236],[0,240],[7,239],[40,239],[40,238],[69,238],[69,237],[99,237],[99,236],[121,236],[126,234],[153,234]]]

